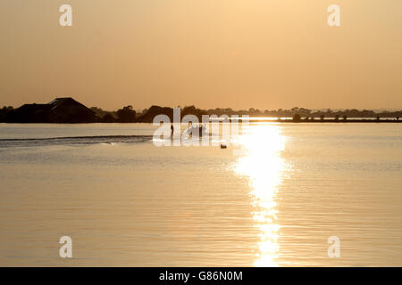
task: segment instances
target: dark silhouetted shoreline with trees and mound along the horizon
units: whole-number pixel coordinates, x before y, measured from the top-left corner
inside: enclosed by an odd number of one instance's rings
[[[152,123],[155,116],[166,115],[173,119],[170,107],[151,106],[136,112],[132,106],[120,110],[107,111],[97,107],[88,108],[74,99],[56,98],[47,104],[24,104],[20,108],[4,106],[0,109],[0,123]],[[202,115],[218,117],[249,116],[250,122],[306,122],[306,123],[400,123],[402,110],[231,110],[230,108],[202,110],[195,106],[181,108],[181,117],[195,115],[201,121]],[[263,119],[257,119],[263,118]],[[264,119],[278,118],[278,119]],[[233,120],[233,119],[230,119]]]

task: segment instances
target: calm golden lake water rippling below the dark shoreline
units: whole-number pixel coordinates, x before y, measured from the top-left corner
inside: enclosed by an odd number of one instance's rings
[[[154,131],[0,124],[0,265],[402,266],[402,125],[259,123],[226,150]]]

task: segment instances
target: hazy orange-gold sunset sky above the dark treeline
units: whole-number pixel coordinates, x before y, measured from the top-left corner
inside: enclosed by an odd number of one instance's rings
[[[0,36],[0,106],[402,108],[401,0],[1,0]]]

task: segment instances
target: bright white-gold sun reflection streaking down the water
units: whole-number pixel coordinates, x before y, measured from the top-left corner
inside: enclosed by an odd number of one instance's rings
[[[277,266],[278,235],[276,200],[278,188],[287,165],[281,158],[286,136],[275,125],[249,126],[237,140],[242,155],[235,171],[247,176],[252,188],[253,218],[259,231],[258,253],[255,266]]]

